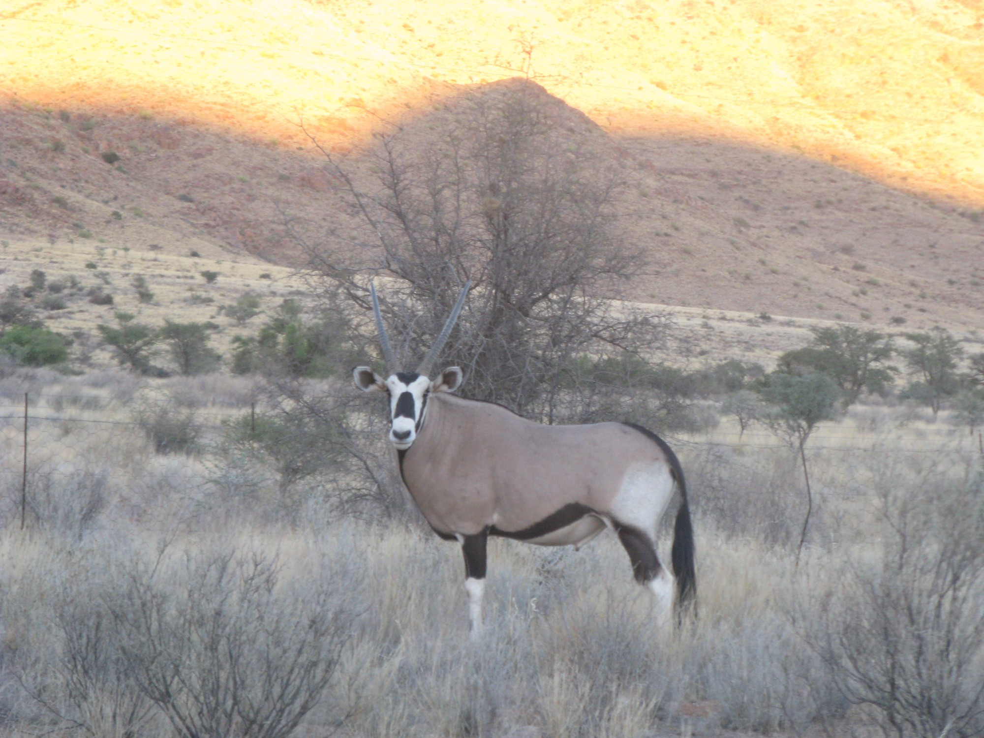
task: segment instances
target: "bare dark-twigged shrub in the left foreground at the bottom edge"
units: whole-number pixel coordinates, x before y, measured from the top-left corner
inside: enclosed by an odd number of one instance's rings
[[[133,568],[110,609],[140,692],[178,735],[282,738],[327,689],[351,615],[331,586],[289,586],[263,555]]]

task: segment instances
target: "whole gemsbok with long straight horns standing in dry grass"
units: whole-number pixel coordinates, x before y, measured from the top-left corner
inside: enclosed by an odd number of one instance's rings
[[[676,575],[679,617],[697,594],[694,531],[680,461],[662,439],[637,425],[542,425],[492,402],[456,397],[462,379],[457,366],[431,380],[469,284],[412,372],[397,363],[370,285],[389,376],[367,366],[352,374],[360,390],[389,396],[389,438],[403,482],[434,531],[461,543],[472,637],[482,628],[490,535],[578,546],[611,527],[629,554],[636,581],[652,591],[660,621],[670,612]],[[680,492],[680,506],[671,574],[659,563],[654,542],[674,490]]]

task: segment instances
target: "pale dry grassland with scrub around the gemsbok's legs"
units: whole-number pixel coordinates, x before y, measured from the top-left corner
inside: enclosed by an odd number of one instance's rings
[[[22,370],[0,393],[5,730],[868,735],[890,677],[896,715],[930,721],[939,704],[945,724],[965,715],[953,734],[979,729],[981,458],[926,411],[856,406],[817,431],[798,567],[790,449],[727,421],[674,433],[699,619],[655,628],[614,535],[506,541],[471,643],[458,547],[412,511],[353,515],[337,466],[291,480],[239,432],[253,380]],[[179,453],[155,451],[173,425],[134,409],[164,400],[194,426]]]

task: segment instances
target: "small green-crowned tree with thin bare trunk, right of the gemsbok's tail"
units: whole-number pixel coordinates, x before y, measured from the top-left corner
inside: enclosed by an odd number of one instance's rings
[[[806,443],[821,422],[833,418],[840,393],[833,380],[820,372],[799,377],[773,372],[764,378],[760,393],[774,407],[765,419],[769,429],[797,450],[803,465],[807,507],[796,548],[796,565],[799,566],[813,513],[813,491],[810,488],[810,473],[806,462]]]

